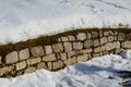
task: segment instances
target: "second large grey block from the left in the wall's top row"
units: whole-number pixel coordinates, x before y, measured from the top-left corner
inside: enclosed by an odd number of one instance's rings
[[[28,49],[24,49],[24,50],[19,51],[19,58],[20,58],[20,61],[28,59],[29,58]]]

